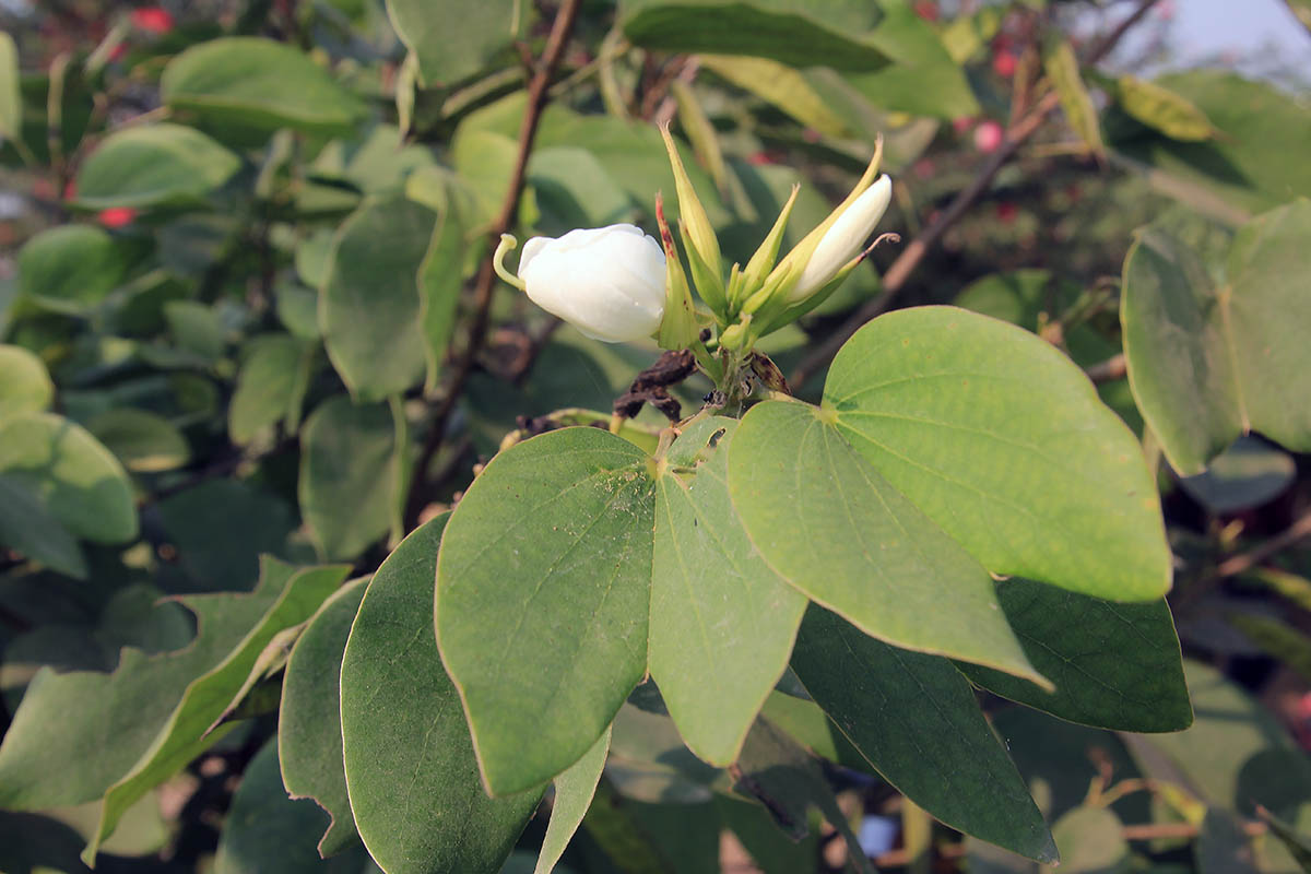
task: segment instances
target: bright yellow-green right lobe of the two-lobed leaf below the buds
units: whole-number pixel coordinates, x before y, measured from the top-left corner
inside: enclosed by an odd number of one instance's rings
[[[888,313],[842,347],[823,397],[836,430],[994,574],[1113,600],[1169,588],[1138,442],[1033,334],[952,307]]]

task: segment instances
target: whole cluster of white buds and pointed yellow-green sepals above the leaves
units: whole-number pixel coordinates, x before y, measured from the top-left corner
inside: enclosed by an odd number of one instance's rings
[[[758,338],[822,303],[869,253],[867,244],[891,199],[891,181],[878,173],[881,142],[851,194],[789,253],[779,258],[796,187],[746,267],[734,263],[725,275],[705,208],[669,130],[662,132],[674,168],[678,229],[691,283],[658,198],[661,241],[631,224],[577,229],[558,238],[532,237],[514,275],[503,258],[518,244],[505,235],[496,253],[501,278],[595,339],[627,342],[654,335],[666,349],[704,351],[703,328],[713,328],[712,345],[750,350]],[[696,311],[694,287],[708,314]]]

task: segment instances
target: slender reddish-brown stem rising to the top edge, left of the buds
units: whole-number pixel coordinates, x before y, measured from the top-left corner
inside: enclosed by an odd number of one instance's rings
[[[486,339],[488,321],[492,311],[492,294],[496,291],[492,253],[496,252],[501,235],[507,233],[514,227],[514,219],[519,210],[519,197],[523,194],[523,178],[528,166],[528,156],[532,153],[532,140],[538,135],[538,122],[541,121],[541,110],[547,105],[547,86],[551,84],[551,77],[560,64],[560,58],[564,55],[569,34],[573,31],[574,21],[578,18],[579,5],[581,0],[564,0],[561,4],[560,12],[556,13],[556,21],[551,26],[547,47],[541,52],[541,60],[532,80],[528,83],[528,105],[524,106],[523,124],[519,127],[519,153],[514,162],[514,172],[510,176],[510,187],[506,191],[505,200],[501,203],[501,212],[497,215],[488,233],[490,241],[488,256],[479,266],[477,279],[473,286],[473,318],[469,322],[468,339],[460,355],[454,362],[446,394],[437,408],[437,413],[433,415],[427,438],[423,440],[423,447],[420,449],[418,460],[410,474],[405,501],[406,531],[414,527],[418,514],[423,507],[423,495],[421,493],[422,485],[427,478],[427,468],[433,463],[437,451],[442,447],[446,426],[455,411],[455,405],[460,400],[460,393],[464,390],[464,383],[473,370],[473,362]]]

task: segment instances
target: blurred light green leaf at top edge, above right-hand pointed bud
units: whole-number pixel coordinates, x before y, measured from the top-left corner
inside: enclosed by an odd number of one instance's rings
[[[943,119],[981,114],[965,71],[933,26],[909,3],[891,3],[884,10],[869,41],[893,63],[878,72],[851,75],[847,81],[880,109]]]

